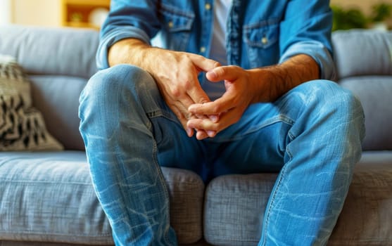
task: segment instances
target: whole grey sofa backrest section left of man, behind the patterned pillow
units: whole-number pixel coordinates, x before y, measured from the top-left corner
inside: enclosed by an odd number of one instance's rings
[[[32,82],[32,101],[46,127],[66,149],[83,150],[77,116],[79,95],[97,71],[95,30],[6,25],[0,53],[14,56]]]

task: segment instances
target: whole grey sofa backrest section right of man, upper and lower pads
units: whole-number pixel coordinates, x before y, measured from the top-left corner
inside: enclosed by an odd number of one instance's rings
[[[338,83],[360,98],[365,111],[364,150],[392,150],[392,32],[332,33]]]

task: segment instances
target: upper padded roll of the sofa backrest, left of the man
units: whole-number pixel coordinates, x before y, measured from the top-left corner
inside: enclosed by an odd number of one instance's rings
[[[0,53],[7,53],[32,75],[65,75],[88,79],[96,72],[98,32],[88,29],[0,28]]]

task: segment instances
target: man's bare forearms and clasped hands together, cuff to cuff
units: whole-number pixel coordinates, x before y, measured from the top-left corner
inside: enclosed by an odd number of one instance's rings
[[[320,78],[320,67],[305,54],[281,65],[244,70],[181,51],[152,47],[139,39],[122,39],[109,50],[110,65],[129,63],[149,72],[163,99],[189,137],[213,138],[241,119],[251,103],[272,102],[293,87]],[[225,93],[210,101],[198,82],[206,72],[210,82],[225,82]]]

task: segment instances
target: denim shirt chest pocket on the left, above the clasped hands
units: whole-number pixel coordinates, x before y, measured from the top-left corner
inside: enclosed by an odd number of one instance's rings
[[[194,23],[194,13],[166,4],[162,4],[159,13],[165,46],[172,50],[185,51]]]

